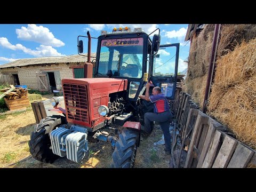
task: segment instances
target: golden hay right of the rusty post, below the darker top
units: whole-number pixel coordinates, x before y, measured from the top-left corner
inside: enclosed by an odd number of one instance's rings
[[[217,62],[208,110],[256,149],[256,39],[243,42]]]

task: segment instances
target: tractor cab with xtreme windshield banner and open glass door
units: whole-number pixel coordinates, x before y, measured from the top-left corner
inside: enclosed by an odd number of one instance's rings
[[[158,35],[150,35],[158,30]],[[97,57],[93,76],[128,80],[126,100],[137,101],[151,81],[159,86],[167,99],[174,99],[178,74],[179,43],[160,45],[159,28],[146,34],[141,28],[131,31],[125,27],[111,33],[101,31],[98,39]],[[90,37],[89,31],[87,32]],[[83,53],[82,40],[78,36],[78,53]],[[89,47],[89,46],[88,46]],[[89,49],[88,49],[89,50]],[[88,53],[87,55],[89,55]]]

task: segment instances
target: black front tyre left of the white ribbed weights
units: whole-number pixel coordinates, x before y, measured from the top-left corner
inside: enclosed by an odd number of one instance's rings
[[[44,163],[53,163],[59,158],[58,155],[52,153],[51,139],[49,133],[56,129],[57,126],[66,123],[65,117],[53,115],[41,119],[39,124],[36,124],[34,131],[30,134],[28,142],[30,154],[37,160]]]

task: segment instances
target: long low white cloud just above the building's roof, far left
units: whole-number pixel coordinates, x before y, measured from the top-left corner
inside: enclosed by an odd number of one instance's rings
[[[7,49],[11,50],[21,50],[26,54],[33,55],[35,57],[46,57],[46,56],[65,56],[61,53],[58,53],[57,50],[55,50],[52,46],[45,46],[45,45],[40,45],[39,47],[36,47],[36,50],[31,50],[28,49],[27,47],[21,45],[21,44],[16,44],[12,45],[7,38],[5,37],[0,37],[0,46],[3,46]]]

